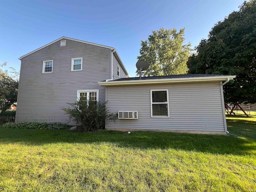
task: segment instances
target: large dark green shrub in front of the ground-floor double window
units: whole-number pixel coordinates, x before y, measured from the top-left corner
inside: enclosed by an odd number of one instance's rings
[[[69,103],[72,108],[63,108],[70,121],[76,122],[78,131],[94,132],[105,128],[105,120],[115,121],[116,114],[108,112],[106,102],[78,101]]]

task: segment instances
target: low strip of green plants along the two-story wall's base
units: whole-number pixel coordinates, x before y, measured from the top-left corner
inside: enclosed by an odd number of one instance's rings
[[[6,123],[2,125],[3,128],[14,129],[51,129],[61,130],[68,129],[70,126],[67,124],[54,122],[54,123],[38,123],[38,122],[26,122],[26,123]]]

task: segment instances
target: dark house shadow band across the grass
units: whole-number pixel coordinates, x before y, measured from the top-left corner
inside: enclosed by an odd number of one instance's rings
[[[168,132],[100,131],[76,133],[68,130],[29,130],[0,128],[0,144],[22,142],[27,145],[52,143],[109,142],[122,148],[176,149],[213,154],[256,154],[256,142],[231,136],[177,134]]]

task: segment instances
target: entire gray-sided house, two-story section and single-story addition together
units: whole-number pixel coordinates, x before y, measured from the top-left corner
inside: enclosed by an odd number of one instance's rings
[[[20,59],[16,122],[67,122],[61,108],[86,96],[118,114],[108,130],[226,134],[222,86],[235,76],[129,78],[114,48],[67,37]]]

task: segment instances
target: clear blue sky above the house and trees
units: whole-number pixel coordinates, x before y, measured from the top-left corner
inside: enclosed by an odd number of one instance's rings
[[[0,0],[0,64],[20,69],[18,58],[62,36],[116,48],[135,76],[140,41],[152,30],[185,27],[197,46],[216,22],[244,0]]]

